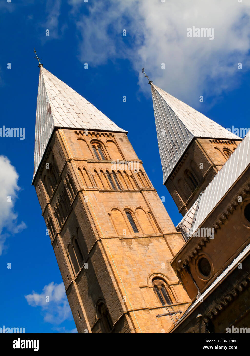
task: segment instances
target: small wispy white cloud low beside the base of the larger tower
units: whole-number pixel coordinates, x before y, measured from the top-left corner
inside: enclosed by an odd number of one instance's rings
[[[33,291],[31,294],[25,295],[25,299],[32,307],[42,308],[42,315],[47,323],[58,325],[64,320],[72,318],[63,283],[54,284],[51,282],[44,286],[42,293]],[[46,302],[46,300],[49,301]]]

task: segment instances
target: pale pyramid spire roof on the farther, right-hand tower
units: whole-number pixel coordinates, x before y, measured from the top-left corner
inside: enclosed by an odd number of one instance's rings
[[[151,84],[163,184],[193,138],[241,140],[191,106]]]

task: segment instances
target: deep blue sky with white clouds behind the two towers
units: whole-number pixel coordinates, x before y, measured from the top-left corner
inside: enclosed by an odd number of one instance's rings
[[[250,127],[250,5],[237,0],[3,0],[0,10],[0,127],[25,127],[24,140],[0,137],[0,327],[75,332],[31,186],[39,80],[34,47],[47,70],[129,131],[177,225],[181,216],[162,185],[150,87],[141,68],[154,84],[220,125]],[[188,38],[193,25],[214,27],[214,40]],[[45,295],[50,303],[44,303]]]

